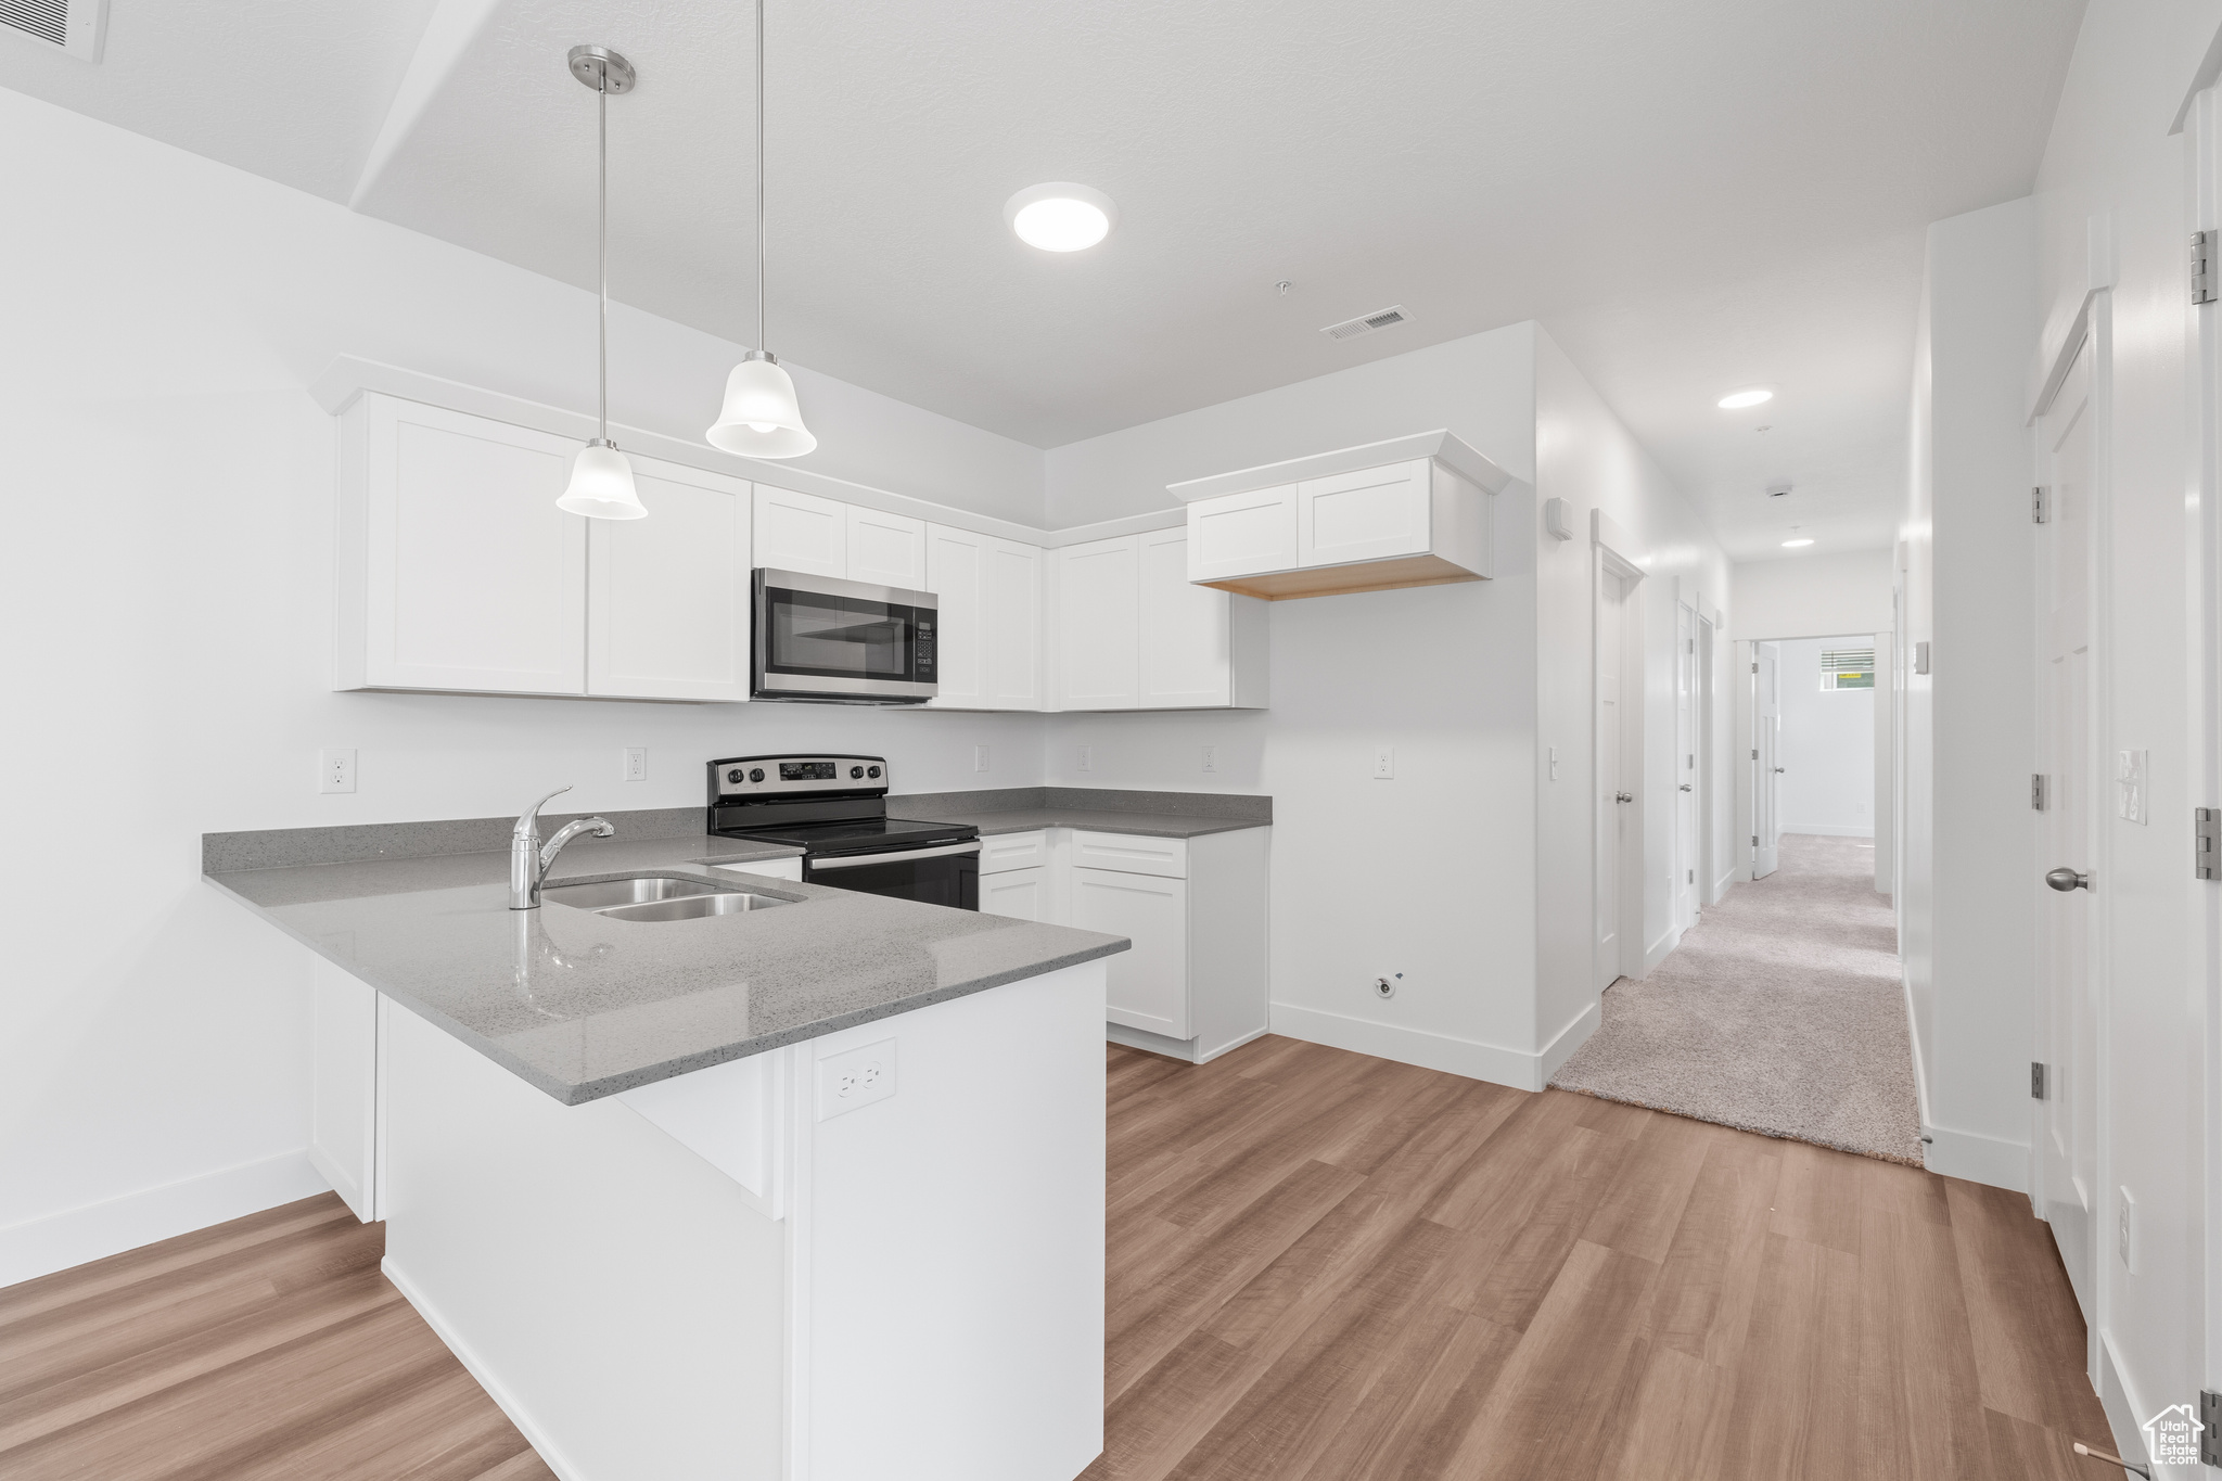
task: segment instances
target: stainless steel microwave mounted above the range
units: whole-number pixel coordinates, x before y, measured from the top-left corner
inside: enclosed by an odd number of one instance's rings
[[[940,646],[931,591],[755,568],[758,699],[924,704]]]

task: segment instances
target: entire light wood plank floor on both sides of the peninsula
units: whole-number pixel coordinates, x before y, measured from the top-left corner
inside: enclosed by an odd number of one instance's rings
[[[2113,1481],[2029,1201],[1295,1039],[1111,1048],[1089,1481]],[[7,1481],[551,1472],[331,1195],[0,1290]],[[2111,1445],[2109,1445],[2111,1448]]]

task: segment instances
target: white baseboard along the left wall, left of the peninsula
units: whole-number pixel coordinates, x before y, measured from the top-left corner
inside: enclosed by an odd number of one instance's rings
[[[309,1163],[307,1150],[280,1152],[11,1223],[0,1230],[0,1286],[191,1235],[224,1219],[242,1219],[278,1203],[313,1197],[327,1188],[329,1183]]]

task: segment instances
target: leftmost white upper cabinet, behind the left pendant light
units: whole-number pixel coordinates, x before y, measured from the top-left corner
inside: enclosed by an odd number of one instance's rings
[[[578,442],[364,393],[340,417],[333,688],[587,693]]]

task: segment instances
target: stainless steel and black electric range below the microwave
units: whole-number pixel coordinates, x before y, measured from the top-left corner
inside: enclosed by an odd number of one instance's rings
[[[709,764],[709,830],[802,848],[840,890],[980,908],[980,830],[887,815],[887,757],[729,755]]]

